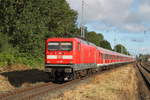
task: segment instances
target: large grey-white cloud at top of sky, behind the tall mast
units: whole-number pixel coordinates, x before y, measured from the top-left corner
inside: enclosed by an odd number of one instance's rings
[[[82,0],[67,0],[71,7],[79,12],[81,16]],[[127,16],[129,6],[132,0],[84,0],[85,1],[85,20],[91,21],[108,21],[114,23],[120,22]],[[79,17],[80,18],[80,17]]]

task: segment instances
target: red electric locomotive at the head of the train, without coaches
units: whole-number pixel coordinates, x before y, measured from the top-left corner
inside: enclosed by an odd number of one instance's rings
[[[46,40],[45,70],[53,80],[72,80],[75,72],[96,66],[96,46],[78,38]]]

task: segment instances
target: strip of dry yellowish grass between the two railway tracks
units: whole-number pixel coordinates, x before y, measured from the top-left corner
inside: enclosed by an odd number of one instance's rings
[[[101,73],[53,100],[138,100],[135,69],[128,64]]]

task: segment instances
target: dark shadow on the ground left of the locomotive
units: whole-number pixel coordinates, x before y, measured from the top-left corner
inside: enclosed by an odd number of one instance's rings
[[[21,87],[24,83],[48,82],[49,77],[44,71],[38,69],[4,72],[0,75],[6,77],[14,87]]]

